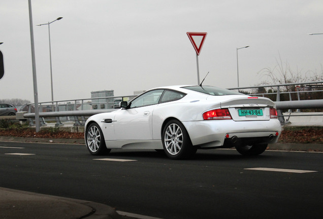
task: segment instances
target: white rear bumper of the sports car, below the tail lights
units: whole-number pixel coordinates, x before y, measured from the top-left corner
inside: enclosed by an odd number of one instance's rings
[[[190,121],[183,122],[193,145],[200,148],[233,147],[232,141],[237,137],[240,143],[275,143],[281,134],[278,119],[267,121]],[[276,136],[276,132],[278,135]],[[226,135],[229,134],[229,138]],[[273,137],[270,137],[273,136]]]

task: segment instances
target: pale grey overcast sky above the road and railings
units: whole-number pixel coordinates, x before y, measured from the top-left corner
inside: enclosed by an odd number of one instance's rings
[[[253,86],[279,54],[292,70],[321,74],[323,1],[31,0],[39,102],[115,96],[159,86],[197,84],[196,52],[186,32],[207,32],[199,55],[205,85]],[[27,0],[0,1],[5,76],[0,99],[34,102]]]

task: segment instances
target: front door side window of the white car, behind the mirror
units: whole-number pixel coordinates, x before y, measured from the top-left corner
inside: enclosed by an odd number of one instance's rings
[[[164,90],[153,90],[137,97],[131,102],[130,108],[157,104]]]

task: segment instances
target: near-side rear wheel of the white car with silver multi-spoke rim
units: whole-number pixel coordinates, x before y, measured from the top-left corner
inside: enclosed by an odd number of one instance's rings
[[[189,158],[197,151],[185,127],[178,120],[170,120],[165,125],[162,140],[165,154],[173,160]]]

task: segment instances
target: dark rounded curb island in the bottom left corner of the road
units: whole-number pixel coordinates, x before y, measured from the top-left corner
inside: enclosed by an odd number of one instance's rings
[[[7,204],[4,205],[4,203]],[[114,208],[105,204],[2,187],[0,187],[0,204],[2,204],[0,215],[10,215],[10,218],[54,218],[56,216],[62,219],[124,218]]]

